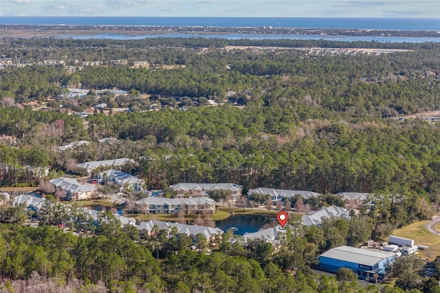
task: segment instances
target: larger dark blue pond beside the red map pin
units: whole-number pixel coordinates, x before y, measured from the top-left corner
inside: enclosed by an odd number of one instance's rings
[[[226,219],[215,221],[215,226],[225,232],[226,230],[235,227],[239,230],[234,231],[234,235],[243,235],[245,232],[256,232],[260,230],[262,226],[270,223],[270,221],[276,221],[276,218],[234,215]]]

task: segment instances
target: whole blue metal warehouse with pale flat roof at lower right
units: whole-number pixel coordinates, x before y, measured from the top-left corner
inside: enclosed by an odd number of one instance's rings
[[[321,254],[319,266],[331,272],[337,272],[340,268],[349,268],[361,279],[375,276],[382,279],[393,261],[395,261],[395,255],[392,253],[339,246]]]

